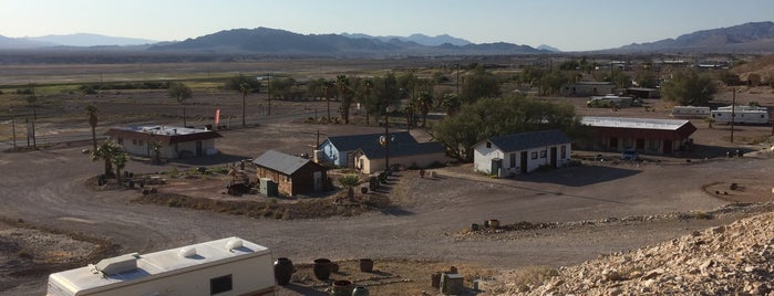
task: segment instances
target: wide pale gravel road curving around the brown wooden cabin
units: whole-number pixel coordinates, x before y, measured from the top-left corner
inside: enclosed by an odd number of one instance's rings
[[[269,145],[267,138],[288,128],[309,129],[278,124],[226,133],[219,148],[227,155],[252,157],[246,151],[257,155],[266,148],[255,146],[257,141]],[[727,221],[673,221],[518,240],[458,240],[455,234],[487,219],[502,223],[580,221],[708,211],[726,201],[706,194],[702,186],[744,184],[774,170],[770,158],[733,158],[690,165],[588,163],[516,180],[482,178],[464,166],[440,169],[433,179],[405,171],[391,183],[391,194],[400,197],[403,204],[399,210],[276,221],[136,204],[130,202],[137,194],[133,190],[92,191],[84,181],[102,166],[89,160],[81,148],[0,154],[0,216],[103,237],[120,244],[121,253],[238,235],[268,246],[275,256],[299,263],[316,257],[421,258],[500,269],[576,264],[600,253],[640,247]],[[154,172],[169,168],[131,162],[127,169]],[[38,278],[3,293],[42,295],[44,289],[44,278]]]

